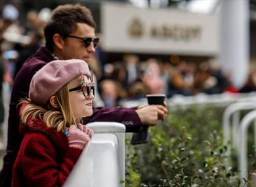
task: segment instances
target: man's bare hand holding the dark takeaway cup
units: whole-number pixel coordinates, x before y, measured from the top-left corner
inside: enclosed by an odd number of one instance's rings
[[[139,115],[142,125],[156,125],[158,119],[164,121],[166,118],[168,110],[165,106],[145,105],[139,106],[135,111]]]

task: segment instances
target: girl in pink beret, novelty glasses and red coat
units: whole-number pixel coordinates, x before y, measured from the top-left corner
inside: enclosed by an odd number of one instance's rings
[[[32,77],[20,102],[24,135],[12,186],[62,186],[93,131],[80,117],[93,114],[94,84],[83,60],[49,62]]]

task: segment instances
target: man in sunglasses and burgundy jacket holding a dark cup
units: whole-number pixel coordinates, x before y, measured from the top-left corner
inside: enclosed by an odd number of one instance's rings
[[[22,141],[18,132],[20,120],[16,106],[20,98],[28,97],[34,73],[54,59],[77,58],[88,63],[98,42],[91,11],[81,5],[62,5],[53,10],[52,18],[44,28],[44,35],[46,47],[41,47],[26,60],[14,82],[9,111],[7,155],[0,174],[0,186],[11,186],[12,167]],[[158,119],[164,120],[166,114],[167,109],[157,105],[137,109],[94,108],[93,115],[87,117],[85,123],[117,121],[124,123],[127,131],[136,132],[141,125],[155,125]]]

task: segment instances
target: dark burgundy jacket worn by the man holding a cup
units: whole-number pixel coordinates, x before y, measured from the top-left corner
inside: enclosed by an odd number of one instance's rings
[[[3,159],[3,169],[0,173],[0,187],[11,186],[12,167],[22,141],[22,136],[18,132],[20,120],[16,106],[20,98],[28,97],[30,81],[35,72],[52,60],[54,60],[54,58],[51,53],[45,47],[41,47],[35,54],[26,60],[20,72],[16,75],[11,94],[8,119],[7,154]],[[85,117],[84,124],[89,123],[90,121],[120,122],[126,125],[127,132],[139,131],[141,125],[139,116],[134,108],[94,108],[93,115]]]

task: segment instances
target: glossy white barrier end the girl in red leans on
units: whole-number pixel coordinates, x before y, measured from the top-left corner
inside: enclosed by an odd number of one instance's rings
[[[64,186],[125,186],[125,125],[93,122],[87,127],[95,134]]]

